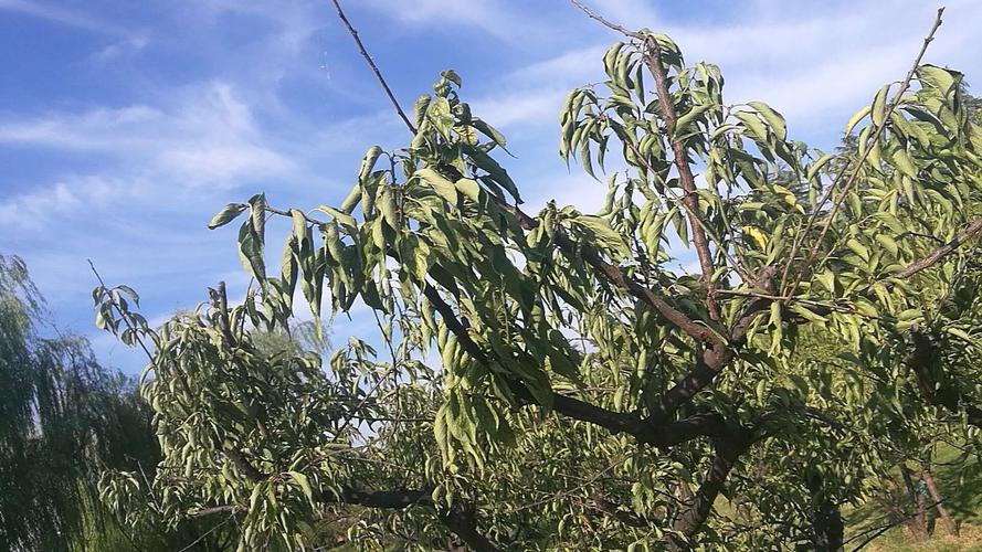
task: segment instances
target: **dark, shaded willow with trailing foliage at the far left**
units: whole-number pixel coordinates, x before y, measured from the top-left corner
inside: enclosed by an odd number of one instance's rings
[[[208,530],[134,530],[99,499],[106,470],[155,476],[150,420],[130,379],[49,320],[23,261],[0,255],[0,550],[170,551]]]

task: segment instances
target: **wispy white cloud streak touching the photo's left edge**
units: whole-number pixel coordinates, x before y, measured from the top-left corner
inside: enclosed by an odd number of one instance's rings
[[[294,161],[267,141],[250,107],[222,82],[182,91],[162,108],[101,107],[0,121],[0,144],[96,152],[187,187],[230,187],[294,170]]]

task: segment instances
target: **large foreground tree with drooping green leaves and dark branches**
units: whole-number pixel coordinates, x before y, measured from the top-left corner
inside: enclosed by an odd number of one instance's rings
[[[226,517],[243,548],[835,549],[838,505],[881,465],[865,444],[982,423],[978,364],[958,358],[978,340],[982,231],[961,75],[921,50],[837,159],[767,104],[725,103],[719,68],[668,36],[617,29],[608,79],[560,109],[560,155],[619,169],[600,212],[526,213],[505,137],[447,71],[411,115],[397,104],[409,145],[370,148],[339,203],[258,194],[215,215],[244,214],[257,285],[240,305],[219,288],[154,330],[101,290],[102,323],[154,351],[157,513]],[[277,275],[271,219],[291,227]],[[696,274],[672,268],[678,243]],[[285,327],[295,296],[317,317],[365,307],[383,352],[257,348],[250,329]],[[779,529],[788,503],[801,516]]]

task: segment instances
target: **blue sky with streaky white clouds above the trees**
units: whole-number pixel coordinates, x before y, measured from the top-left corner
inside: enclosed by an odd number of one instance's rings
[[[590,3],[719,64],[727,102],[768,102],[820,148],[902,78],[937,8]],[[529,210],[598,205],[604,187],[556,153],[556,119],[571,87],[602,79],[617,36],[564,0],[345,4],[404,104],[441,70],[463,76],[464,99],[509,138]],[[982,83],[982,2],[947,6],[927,60]],[[59,325],[127,372],[142,361],[94,329],[86,258],[139,290],[151,320],[220,279],[241,293],[234,231],[204,227],[214,212],[258,191],[281,206],[337,204],[369,146],[406,138],[329,0],[0,0],[0,253],[22,256]],[[368,331],[357,316],[335,326]]]

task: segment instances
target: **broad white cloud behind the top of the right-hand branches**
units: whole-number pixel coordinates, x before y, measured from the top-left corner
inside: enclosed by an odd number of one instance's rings
[[[758,2],[745,19],[722,25],[718,21],[696,23],[658,22],[654,10],[635,0],[595,3],[602,15],[625,26],[652,26],[669,34],[683,49],[687,62],[708,61],[720,65],[727,78],[727,102],[762,99],[773,104],[792,126],[804,129],[826,126],[830,118],[843,121],[868,102],[887,82],[904,77],[920,39],[935,15],[935,8],[917,2],[894,1],[846,4],[815,10],[810,4]],[[881,14],[891,13],[889,24]],[[583,17],[584,24],[596,24]],[[974,49],[974,25],[982,19],[982,3],[955,2],[947,13],[927,60],[982,70]],[[657,24],[658,26],[654,26]],[[538,98],[555,99],[555,89],[604,79],[601,57],[608,42],[563,52],[535,62],[508,75],[525,87],[509,123],[539,116],[551,121],[558,109],[538,106]],[[971,76],[971,75],[970,75]],[[507,106],[511,92],[486,97],[483,104]],[[548,98],[548,99],[547,99]],[[836,120],[836,127],[838,121]]]

